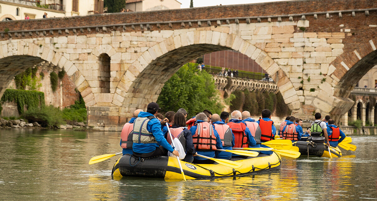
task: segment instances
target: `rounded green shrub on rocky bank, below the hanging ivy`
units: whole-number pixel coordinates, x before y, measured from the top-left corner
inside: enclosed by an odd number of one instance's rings
[[[23,114],[23,118],[29,122],[38,122],[42,127],[51,128],[64,124],[60,109],[52,105],[29,109]]]

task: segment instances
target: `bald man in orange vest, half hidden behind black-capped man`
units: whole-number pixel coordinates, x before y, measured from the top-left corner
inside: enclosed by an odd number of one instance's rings
[[[122,132],[120,133],[120,146],[123,148],[123,155],[132,154],[132,135],[130,135],[133,131],[133,121],[138,117],[140,112],[144,112],[142,109],[137,109],[133,112],[131,120],[124,124]]]

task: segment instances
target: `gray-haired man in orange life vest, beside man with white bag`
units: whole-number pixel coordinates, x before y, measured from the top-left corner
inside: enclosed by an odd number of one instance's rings
[[[223,149],[219,134],[213,129],[213,125],[208,123],[208,117],[203,112],[195,116],[196,124],[190,128],[193,134],[193,144],[198,154],[215,158],[215,150]],[[193,163],[212,164],[213,160],[194,156]]]

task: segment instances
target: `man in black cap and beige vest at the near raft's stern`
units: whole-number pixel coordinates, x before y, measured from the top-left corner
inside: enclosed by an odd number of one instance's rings
[[[155,117],[160,109],[157,103],[149,103],[147,112],[140,112],[138,118],[135,119],[132,137],[135,157],[167,156],[167,151],[179,156],[178,151],[174,150],[164,138],[161,123]]]

